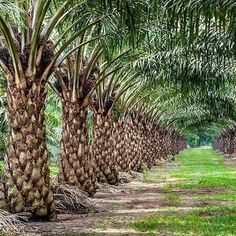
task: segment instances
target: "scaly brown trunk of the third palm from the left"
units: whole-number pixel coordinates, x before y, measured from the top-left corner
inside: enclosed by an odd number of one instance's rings
[[[99,182],[116,184],[118,172],[112,158],[112,131],[111,117],[94,114],[93,156],[96,160],[96,175]]]

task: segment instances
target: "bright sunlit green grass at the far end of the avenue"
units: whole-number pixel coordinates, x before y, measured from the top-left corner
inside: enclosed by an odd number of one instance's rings
[[[168,184],[165,189],[224,188],[236,190],[236,169],[226,167],[224,158],[211,150],[191,149],[178,155],[176,161],[182,168],[172,173],[171,177],[185,181]]]

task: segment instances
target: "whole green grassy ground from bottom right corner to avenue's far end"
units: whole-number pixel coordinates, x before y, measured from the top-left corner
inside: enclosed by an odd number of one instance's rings
[[[226,167],[223,157],[207,149],[190,149],[178,155],[176,165],[179,168],[169,172],[147,172],[143,181],[148,184],[157,179],[174,179],[163,186],[164,191],[171,192],[164,200],[187,202],[190,197],[191,201],[198,201],[198,205],[187,213],[158,213],[135,221],[132,227],[150,235],[163,235],[163,232],[164,235],[236,235],[236,169]],[[199,190],[205,194],[198,194]],[[181,191],[194,194],[186,198],[178,194]],[[206,201],[211,204],[207,205]]]

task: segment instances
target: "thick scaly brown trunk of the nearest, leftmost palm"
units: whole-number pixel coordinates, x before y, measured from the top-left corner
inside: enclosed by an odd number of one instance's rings
[[[8,90],[6,199],[12,213],[31,211],[34,218],[54,215],[44,123],[45,89]]]

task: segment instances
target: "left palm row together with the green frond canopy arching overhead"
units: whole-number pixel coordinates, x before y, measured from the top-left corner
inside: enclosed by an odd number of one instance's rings
[[[62,104],[58,180],[91,195],[97,182],[117,183],[119,171],[142,171],[186,148],[183,131],[234,119],[233,0],[9,4],[0,9],[0,62],[8,80],[10,211],[54,215],[48,85]]]

